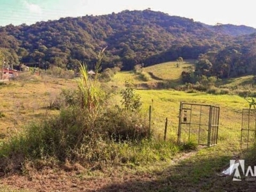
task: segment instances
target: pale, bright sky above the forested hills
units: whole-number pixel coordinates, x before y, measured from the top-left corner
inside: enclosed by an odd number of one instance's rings
[[[0,26],[150,8],[210,25],[256,28],[252,3],[252,0],[0,0]]]

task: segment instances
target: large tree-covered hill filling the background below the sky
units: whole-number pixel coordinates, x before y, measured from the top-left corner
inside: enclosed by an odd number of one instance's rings
[[[1,51],[6,62],[36,63],[40,67],[76,68],[78,61],[92,65],[97,52],[108,45],[104,67],[122,65],[124,70],[130,70],[136,63],[154,65],[179,56],[197,58],[232,41],[232,36],[216,33],[192,19],[152,10],[125,10],[0,28],[0,47],[4,48]]]

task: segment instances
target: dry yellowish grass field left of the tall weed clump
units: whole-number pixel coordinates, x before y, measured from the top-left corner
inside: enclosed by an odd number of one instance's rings
[[[36,81],[9,81],[0,85],[0,138],[22,125],[36,122],[58,111],[46,109],[61,89],[76,88],[75,80],[37,78]]]

